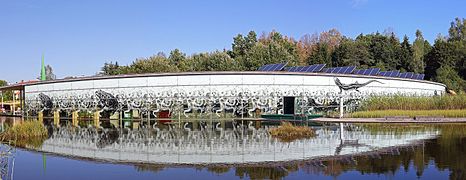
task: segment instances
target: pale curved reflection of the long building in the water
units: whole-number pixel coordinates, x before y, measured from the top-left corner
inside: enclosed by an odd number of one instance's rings
[[[427,129],[403,133],[345,132],[342,144],[338,131],[319,129],[313,139],[280,142],[267,129],[222,131],[109,131],[93,129],[55,131],[39,149],[65,156],[118,162],[142,163],[253,163],[302,160],[322,156],[362,153],[400,146],[436,137]],[[357,143],[355,140],[357,140]]]

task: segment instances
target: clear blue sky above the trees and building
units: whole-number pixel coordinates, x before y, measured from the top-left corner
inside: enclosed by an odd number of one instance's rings
[[[105,62],[129,64],[179,48],[230,49],[238,33],[276,30],[299,39],[336,28],[355,37],[390,28],[433,42],[466,1],[429,0],[0,0],[0,79],[35,79],[45,54],[58,78],[93,75]]]

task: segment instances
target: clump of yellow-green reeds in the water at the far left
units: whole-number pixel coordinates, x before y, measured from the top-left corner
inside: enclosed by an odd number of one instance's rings
[[[0,133],[0,141],[23,141],[47,137],[47,129],[40,121],[22,121]]]

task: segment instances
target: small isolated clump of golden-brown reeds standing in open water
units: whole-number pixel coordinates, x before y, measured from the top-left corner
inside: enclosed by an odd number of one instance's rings
[[[294,126],[289,122],[283,122],[280,126],[269,130],[272,137],[283,142],[291,142],[297,139],[315,136],[315,131],[307,126]]]

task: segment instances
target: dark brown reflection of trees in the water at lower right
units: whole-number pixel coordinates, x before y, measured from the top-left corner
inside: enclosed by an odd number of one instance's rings
[[[412,165],[416,170],[416,175],[422,176],[428,163],[433,161],[438,170],[450,170],[450,179],[466,179],[466,162],[464,161],[466,159],[466,126],[447,124],[435,125],[435,127],[441,131],[441,136],[424,141],[417,146],[394,148],[388,152],[382,151],[377,156],[371,153],[354,156],[354,161],[357,163],[348,163],[345,158],[335,158],[323,162],[326,165],[325,168],[306,164],[301,164],[300,168],[307,169],[310,173],[322,173],[328,176],[339,176],[352,170],[359,171],[361,174],[388,173],[393,175],[401,169],[408,171],[409,166]],[[403,129],[410,130],[409,128]]]

